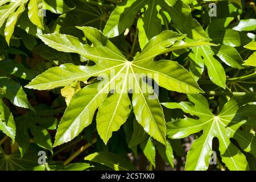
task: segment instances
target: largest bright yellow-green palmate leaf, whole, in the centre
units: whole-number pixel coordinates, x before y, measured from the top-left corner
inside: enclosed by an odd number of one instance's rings
[[[92,45],[82,44],[71,35],[38,35],[49,47],[58,51],[74,52],[92,60],[93,66],[63,64],[42,73],[26,87],[38,90],[67,86],[73,81],[86,81],[98,77],[100,82],[79,90],[70,101],[57,129],[54,146],[75,138],[84,127],[90,125],[94,112],[97,113],[97,129],[105,143],[113,131],[126,121],[131,104],[137,121],[146,133],[161,143],[166,143],[165,121],[156,93],[145,84],[143,77],[168,89],[182,93],[202,92],[193,77],[175,61],[153,61],[154,57],[171,49],[197,46],[198,43],[184,43],[184,35],[173,31],[163,31],[152,38],[142,52],[133,60],[125,56],[106,36],[92,27],[79,27]],[[172,45],[174,46],[172,47]],[[204,43],[208,45],[208,43]],[[146,86],[145,86],[146,85]],[[112,90],[112,95],[108,94]],[[114,90],[114,91],[113,91]],[[127,94],[133,90],[132,102]]]

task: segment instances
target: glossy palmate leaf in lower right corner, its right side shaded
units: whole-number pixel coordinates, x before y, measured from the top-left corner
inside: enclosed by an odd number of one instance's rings
[[[242,131],[241,127],[255,127],[255,119],[249,116],[255,115],[256,105],[246,104],[255,101],[255,96],[234,96],[222,107],[218,115],[212,114],[208,101],[200,94],[188,94],[191,102],[163,103],[171,109],[182,109],[199,117],[199,119],[185,118],[176,122],[167,123],[167,136],[170,138],[184,138],[190,134],[203,130],[203,134],[192,143],[188,151],[185,169],[206,170],[212,155],[212,140],[218,138],[219,150],[222,162],[230,170],[245,170],[248,167],[245,155],[240,149],[230,142],[235,139],[243,151],[256,156],[256,141],[251,133]]]

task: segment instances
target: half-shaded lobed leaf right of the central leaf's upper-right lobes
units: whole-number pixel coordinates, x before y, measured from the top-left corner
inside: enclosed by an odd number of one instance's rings
[[[220,46],[195,47],[189,53],[191,73],[197,79],[200,78],[205,65],[210,80],[224,89],[226,88],[226,73],[215,56],[230,67],[242,69],[242,57],[234,47],[250,42],[250,38],[245,33],[226,28],[232,20],[233,18],[216,19],[207,27],[207,33],[212,42],[221,44]]]

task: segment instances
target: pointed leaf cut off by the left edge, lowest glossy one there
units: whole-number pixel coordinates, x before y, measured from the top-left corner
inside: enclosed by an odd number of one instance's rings
[[[11,114],[8,107],[0,99],[0,130],[3,131],[8,137],[13,140],[15,139],[16,127],[13,119],[13,114]]]

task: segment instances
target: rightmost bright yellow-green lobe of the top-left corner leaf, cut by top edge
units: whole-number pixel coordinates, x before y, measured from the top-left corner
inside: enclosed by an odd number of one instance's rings
[[[39,28],[44,29],[43,23],[43,1],[30,0],[28,3],[28,18]]]

